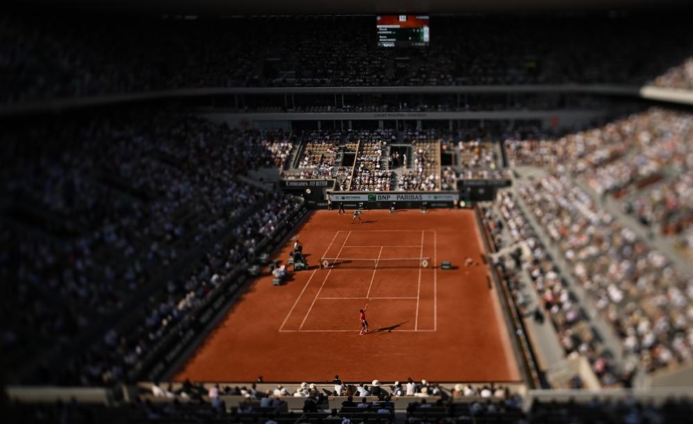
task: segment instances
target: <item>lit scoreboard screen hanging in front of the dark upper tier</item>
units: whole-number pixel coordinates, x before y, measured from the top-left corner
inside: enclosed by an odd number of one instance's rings
[[[428,46],[428,16],[378,15],[378,47]]]

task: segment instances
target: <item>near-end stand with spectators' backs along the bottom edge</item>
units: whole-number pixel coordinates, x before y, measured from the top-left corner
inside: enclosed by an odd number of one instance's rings
[[[315,386],[315,385],[313,385]],[[275,386],[276,387],[276,386]],[[231,387],[213,385],[209,388],[186,383],[193,394],[184,398],[168,396],[168,389],[160,389],[163,395],[141,395],[132,401],[116,405],[80,403],[77,400],[58,403],[15,403],[8,409],[13,422],[52,423],[152,423],[152,422],[270,422],[317,423],[335,416],[344,422],[386,423],[401,420],[407,423],[426,423],[431,420],[444,423],[473,421],[480,423],[563,423],[571,422],[681,422],[690,414],[691,403],[687,398],[676,398],[671,393],[640,394],[638,392],[614,392],[599,394],[592,391],[577,398],[551,394],[550,391],[532,391],[529,402],[517,395],[484,396],[475,392],[471,385],[455,385],[453,396],[401,396],[379,398],[368,396],[367,402],[354,399],[364,407],[348,407],[342,403],[351,398],[324,398],[321,403],[313,397],[294,398],[265,394],[256,385]],[[489,391],[491,387],[480,387]],[[316,389],[310,389],[319,397]],[[503,392],[504,390],[501,390]],[[507,389],[505,390],[507,391]],[[184,389],[178,390],[183,393]],[[245,393],[245,395],[243,395]],[[298,407],[290,407],[290,400],[301,400]],[[304,399],[307,399],[304,401]],[[335,407],[331,408],[331,405]],[[399,406],[399,404],[403,406]],[[295,404],[298,405],[298,404]],[[310,406],[313,405],[313,406]],[[319,408],[315,409],[315,406]],[[394,414],[393,414],[394,411]],[[333,418],[330,418],[330,417]],[[400,418],[401,416],[401,418]],[[394,417],[394,418],[393,418]],[[336,419],[336,418],[335,418]]]

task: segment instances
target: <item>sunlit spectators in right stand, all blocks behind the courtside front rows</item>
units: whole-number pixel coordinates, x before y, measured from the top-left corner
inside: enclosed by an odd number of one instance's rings
[[[693,360],[693,280],[604,203],[637,217],[649,238],[653,230],[674,234],[687,248],[692,136],[690,114],[650,109],[562,138],[525,134],[505,142],[512,166],[555,172],[520,184],[520,194],[624,350],[649,371]]]

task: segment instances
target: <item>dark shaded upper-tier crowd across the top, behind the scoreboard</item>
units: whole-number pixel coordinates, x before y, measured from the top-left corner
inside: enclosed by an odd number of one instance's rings
[[[691,86],[683,16],[432,17],[430,28],[430,46],[401,51],[376,46],[373,16],[6,15],[0,100],[228,86]]]

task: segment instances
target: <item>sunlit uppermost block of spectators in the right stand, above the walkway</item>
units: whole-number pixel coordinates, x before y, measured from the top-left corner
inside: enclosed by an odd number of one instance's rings
[[[649,109],[561,138],[511,134],[511,166],[545,166],[578,174],[611,196],[645,228],[672,235],[693,253],[693,115]]]

